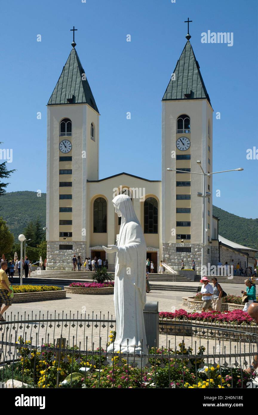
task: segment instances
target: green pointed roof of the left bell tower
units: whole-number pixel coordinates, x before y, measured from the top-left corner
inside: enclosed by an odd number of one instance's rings
[[[48,105],[58,104],[88,104],[99,112],[82,64],[74,48],[71,50],[48,102]]]

